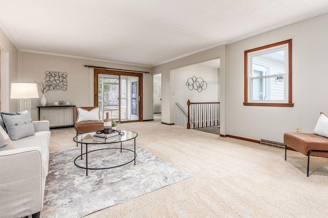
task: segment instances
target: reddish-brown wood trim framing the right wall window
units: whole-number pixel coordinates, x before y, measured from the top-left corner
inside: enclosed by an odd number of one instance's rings
[[[288,103],[253,103],[248,102],[248,53],[268,49],[282,44],[288,43]],[[244,52],[244,106],[267,106],[267,107],[294,107],[292,95],[292,39],[276,42],[269,45],[257,47],[255,49],[247,50]]]

